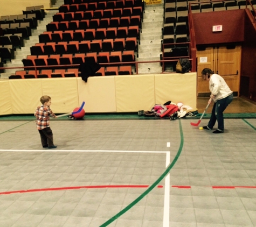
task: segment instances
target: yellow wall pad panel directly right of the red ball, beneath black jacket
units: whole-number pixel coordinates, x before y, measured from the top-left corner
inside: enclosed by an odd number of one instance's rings
[[[79,103],[85,101],[86,112],[116,112],[115,76],[78,79]]]

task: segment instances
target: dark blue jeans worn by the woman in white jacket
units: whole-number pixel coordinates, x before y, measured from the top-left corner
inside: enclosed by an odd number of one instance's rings
[[[224,118],[223,118],[223,112],[227,108],[227,106],[232,102],[233,100],[233,94],[222,98],[222,100],[218,100],[217,102],[214,103],[213,108],[212,108],[212,114],[211,118],[208,123],[209,129],[212,129],[213,126],[216,123],[216,120],[218,122],[218,130],[219,131],[224,131]]]

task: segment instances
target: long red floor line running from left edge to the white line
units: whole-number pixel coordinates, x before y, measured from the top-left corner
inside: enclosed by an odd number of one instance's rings
[[[29,190],[18,190],[18,191],[3,191],[0,195],[8,195],[13,193],[32,193],[36,191],[58,191],[58,190],[73,190],[81,188],[148,188],[149,185],[92,185],[92,186],[77,186],[77,187],[62,187],[62,188],[41,188],[41,189],[29,189]],[[163,187],[163,186],[158,186]]]

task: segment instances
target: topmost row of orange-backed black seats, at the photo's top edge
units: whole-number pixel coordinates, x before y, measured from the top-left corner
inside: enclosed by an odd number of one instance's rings
[[[98,3],[91,2],[91,3],[80,3],[80,4],[64,4],[59,7],[59,12],[123,9],[123,8],[132,8],[136,6],[143,7],[143,3],[141,1],[126,0],[126,1],[104,1],[104,2],[98,2]]]

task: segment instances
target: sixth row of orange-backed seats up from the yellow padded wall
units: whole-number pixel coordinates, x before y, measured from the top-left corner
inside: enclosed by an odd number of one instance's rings
[[[79,9],[76,12],[58,12],[53,15],[54,22],[71,21],[71,20],[82,20],[82,19],[101,19],[101,18],[112,18],[112,17],[130,17],[140,16],[143,18],[142,7],[134,6],[133,8],[123,9],[108,9],[108,10],[82,10]]]

